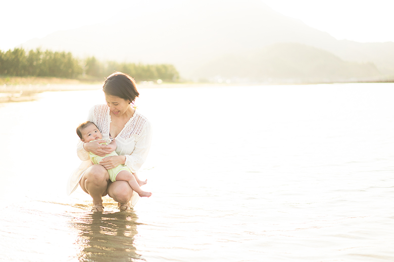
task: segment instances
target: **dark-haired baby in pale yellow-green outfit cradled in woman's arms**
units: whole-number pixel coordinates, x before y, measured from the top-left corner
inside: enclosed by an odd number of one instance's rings
[[[90,121],[86,121],[84,123],[81,123],[77,127],[77,135],[81,139],[82,142],[92,142],[95,140],[103,140],[103,137],[100,133],[100,130],[98,130],[97,126]],[[90,155],[90,160],[93,164],[99,164],[100,161],[102,161],[104,158],[109,157],[109,156],[117,156],[118,154],[115,152],[116,149],[116,143],[113,140],[110,144],[107,143],[101,143],[102,145],[109,145],[111,147],[111,150],[113,150],[112,153],[105,155],[104,157],[94,155],[93,153],[89,152]],[[142,191],[140,185],[146,184],[145,181],[141,181],[138,179],[137,175],[135,173],[132,173],[130,168],[128,168],[125,165],[118,165],[117,167],[111,168],[107,170],[110,179],[112,182],[114,181],[127,181],[131,188],[136,191],[140,197],[151,197],[152,193],[151,192],[145,192]]]

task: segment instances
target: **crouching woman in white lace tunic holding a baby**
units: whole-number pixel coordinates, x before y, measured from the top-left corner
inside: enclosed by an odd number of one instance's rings
[[[107,105],[95,105],[89,111],[88,120],[95,123],[102,133],[103,140],[79,143],[78,157],[83,160],[70,176],[68,194],[78,184],[93,199],[92,212],[103,212],[102,197],[109,195],[120,210],[129,210],[138,200],[127,181],[111,182],[108,169],[119,164],[128,166],[135,173],[146,159],[151,147],[152,127],[150,122],[130,105],[139,93],[134,80],[126,74],[114,73],[107,78],[103,91]],[[92,165],[89,152],[98,156],[110,153],[110,147],[100,145],[109,139],[116,139],[116,153],[103,159],[100,165]]]

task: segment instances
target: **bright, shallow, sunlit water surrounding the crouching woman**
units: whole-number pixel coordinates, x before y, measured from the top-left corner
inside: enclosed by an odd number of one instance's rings
[[[0,260],[394,260],[393,84],[139,91],[153,197],[130,213],[65,194],[102,91],[0,105]]]

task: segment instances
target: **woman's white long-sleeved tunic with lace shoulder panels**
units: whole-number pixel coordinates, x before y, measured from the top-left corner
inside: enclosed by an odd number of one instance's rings
[[[89,110],[87,120],[95,123],[100,130],[103,140],[110,139],[110,108],[107,105],[95,105]],[[127,121],[121,132],[115,138],[118,155],[126,156],[125,165],[134,173],[143,164],[151,148],[152,126],[151,123],[138,111]],[[77,155],[82,160],[80,166],[71,174],[67,193],[71,194],[77,187],[83,173],[92,164],[89,152],[83,149],[83,143],[77,145]]]

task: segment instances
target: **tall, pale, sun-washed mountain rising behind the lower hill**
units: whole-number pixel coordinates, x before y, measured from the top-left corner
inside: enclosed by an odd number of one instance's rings
[[[146,0],[145,3],[149,6],[154,1]],[[58,31],[21,46],[65,50],[80,57],[94,55],[105,60],[172,63],[181,76],[195,79],[201,78],[201,68],[215,64],[212,62],[215,59],[217,67],[222,67],[218,62],[220,59],[230,59],[231,63],[243,59],[243,64],[251,65],[256,63],[257,57],[266,59],[268,54],[262,53],[269,50],[264,49],[267,46],[300,43],[330,52],[342,62],[357,62],[348,63],[348,68],[353,67],[350,71],[362,67],[363,72],[367,71],[366,76],[394,74],[394,43],[338,41],[328,33],[273,11],[259,0],[169,0],[166,4],[162,12],[134,9],[120,22],[109,20],[103,24]],[[294,45],[284,47],[290,49],[276,53],[277,59],[285,58],[285,53],[291,54],[295,48]],[[315,49],[309,51],[312,55]],[[271,62],[275,60],[270,59]],[[313,64],[313,59],[310,61]],[[368,62],[375,66],[362,65]],[[235,70],[233,74],[238,73]],[[300,77],[308,77],[308,74],[313,76],[312,72],[304,72]]]

